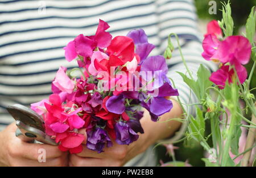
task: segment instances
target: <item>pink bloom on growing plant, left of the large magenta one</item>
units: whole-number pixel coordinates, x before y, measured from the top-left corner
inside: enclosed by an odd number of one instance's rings
[[[204,52],[202,56],[205,60],[213,60],[215,62],[218,61],[218,46],[220,44],[220,40],[214,34],[209,34],[205,36],[203,40],[203,49]]]

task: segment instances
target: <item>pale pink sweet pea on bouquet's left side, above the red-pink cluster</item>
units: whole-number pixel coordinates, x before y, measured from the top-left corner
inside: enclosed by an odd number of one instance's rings
[[[57,88],[63,92],[72,93],[75,87],[74,82],[65,73],[67,70],[64,67],[60,67],[56,73],[55,80],[52,82]]]

